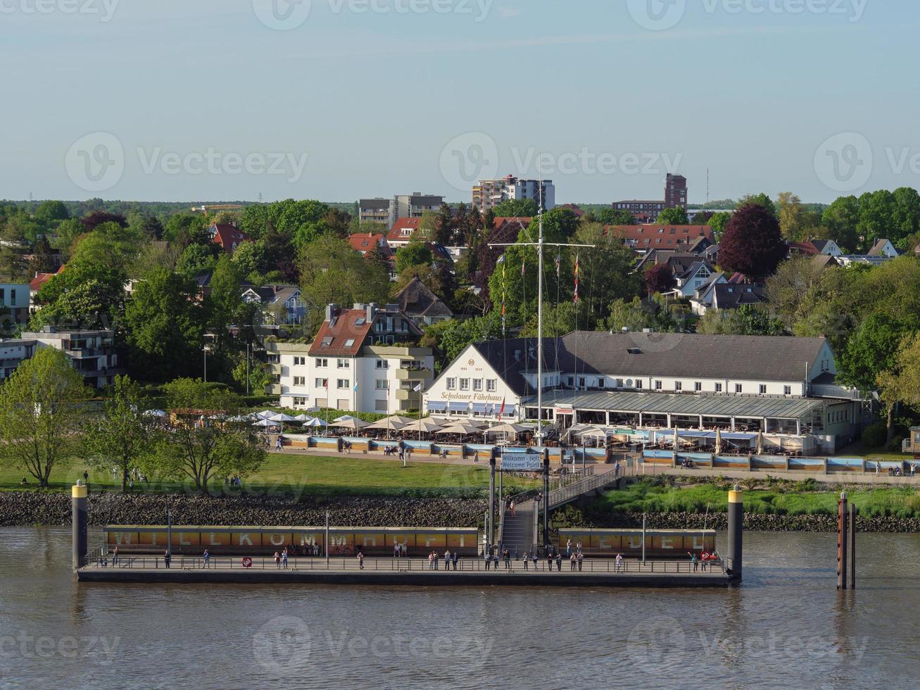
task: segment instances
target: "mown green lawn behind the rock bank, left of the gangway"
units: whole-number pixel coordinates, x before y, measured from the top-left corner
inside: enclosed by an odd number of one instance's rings
[[[66,491],[84,470],[89,472],[91,489],[121,489],[111,472],[94,470],[82,461],[68,461],[52,471],[52,490]],[[21,490],[21,469],[0,466],[0,490]],[[36,482],[28,477],[29,486]],[[525,482],[509,477],[505,489],[536,488],[537,482]],[[437,463],[408,463],[403,468],[398,460],[368,460],[342,456],[303,454],[270,454],[259,473],[243,481],[243,489],[252,492],[308,493],[322,495],[473,495],[489,488],[489,466],[442,465]],[[148,488],[134,483],[135,492],[192,491],[190,483],[152,481]],[[224,489],[219,477],[209,487],[212,493]],[[233,489],[240,492],[240,489]]]

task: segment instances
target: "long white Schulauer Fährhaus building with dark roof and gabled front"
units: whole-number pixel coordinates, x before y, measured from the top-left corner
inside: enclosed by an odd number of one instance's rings
[[[536,420],[536,357],[536,339],[470,345],[431,384],[425,409],[442,418]],[[559,431],[577,423],[719,428],[833,453],[864,418],[857,394],[835,378],[823,338],[578,331],[544,339],[543,416]]]

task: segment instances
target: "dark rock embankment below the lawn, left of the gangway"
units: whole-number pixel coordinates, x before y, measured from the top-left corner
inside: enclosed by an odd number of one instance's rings
[[[206,498],[163,494],[97,494],[89,497],[89,523],[342,527],[470,527],[488,500],[329,497],[296,502],[283,497]],[[70,524],[71,501],[63,493],[0,492],[0,526]]]

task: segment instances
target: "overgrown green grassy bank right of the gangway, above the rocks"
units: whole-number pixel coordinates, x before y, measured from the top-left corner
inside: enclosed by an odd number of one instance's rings
[[[810,482],[759,482],[744,491],[744,511],[761,514],[815,515],[834,514],[839,490],[815,490]],[[847,496],[857,510],[869,516],[920,515],[920,492],[910,488],[848,488]],[[647,480],[622,491],[609,491],[593,501],[586,512],[726,512],[727,487],[717,483],[669,486]]]

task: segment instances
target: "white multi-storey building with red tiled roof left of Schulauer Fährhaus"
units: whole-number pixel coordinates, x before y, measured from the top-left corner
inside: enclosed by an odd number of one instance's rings
[[[266,342],[282,407],[356,412],[421,408],[434,354],[418,347],[421,330],[396,305],[328,305],[312,344]]]

